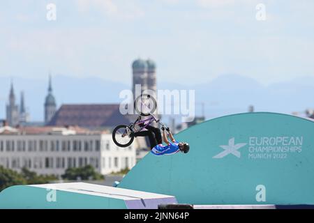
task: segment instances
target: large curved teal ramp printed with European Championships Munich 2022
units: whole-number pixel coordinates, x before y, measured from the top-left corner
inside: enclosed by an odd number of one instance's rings
[[[119,187],[192,204],[314,204],[314,123],[274,113],[234,114],[177,134],[190,152],[149,153]]]

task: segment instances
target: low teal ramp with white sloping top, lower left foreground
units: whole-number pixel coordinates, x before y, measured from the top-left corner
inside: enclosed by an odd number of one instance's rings
[[[17,185],[0,193],[0,208],[147,209],[177,203],[172,196],[89,183]]]

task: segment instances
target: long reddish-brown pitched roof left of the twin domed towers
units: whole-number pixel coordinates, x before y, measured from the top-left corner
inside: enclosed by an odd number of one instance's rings
[[[128,123],[119,112],[119,104],[62,105],[47,125],[78,125],[87,128],[112,128]]]

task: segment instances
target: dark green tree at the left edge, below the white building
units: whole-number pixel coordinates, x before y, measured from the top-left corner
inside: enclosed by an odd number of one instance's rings
[[[25,180],[22,174],[0,166],[0,191],[6,187],[23,184],[27,184],[27,180]]]

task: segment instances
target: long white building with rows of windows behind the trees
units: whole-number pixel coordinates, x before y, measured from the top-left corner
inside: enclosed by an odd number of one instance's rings
[[[136,163],[135,146],[119,148],[112,134],[82,128],[0,128],[0,165],[20,171],[61,176],[69,167],[91,164],[100,174],[110,174]]]

